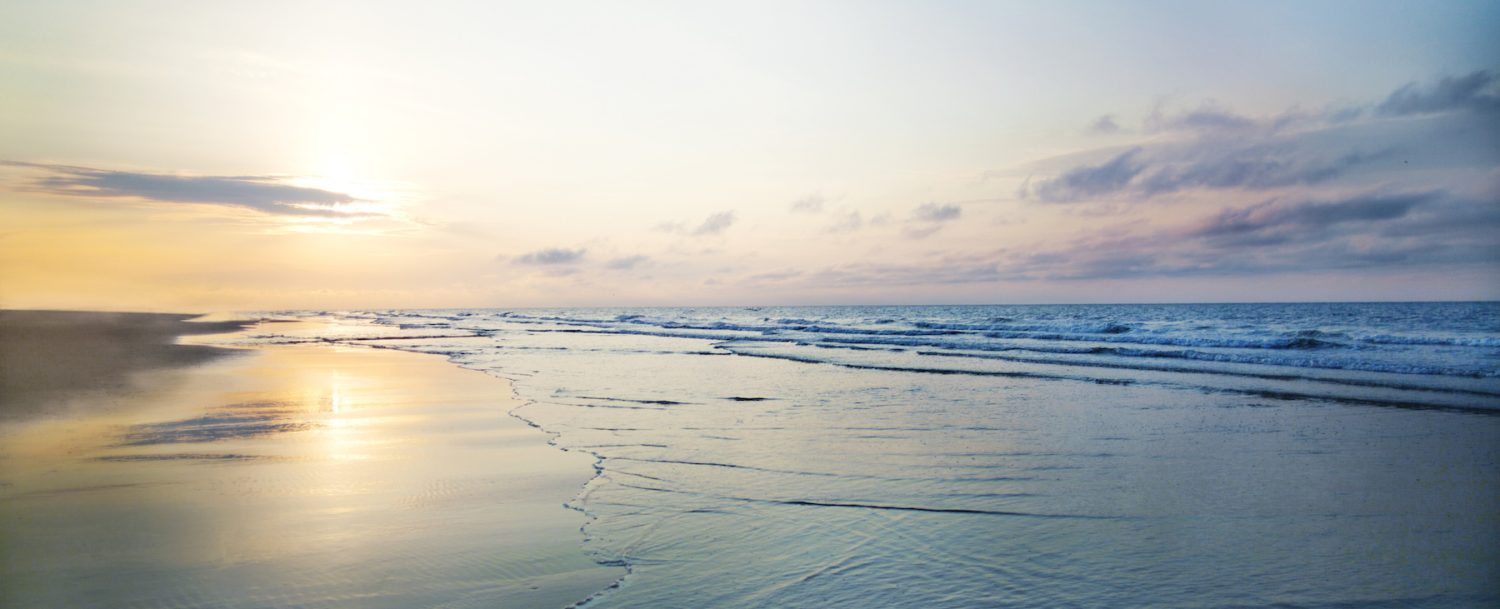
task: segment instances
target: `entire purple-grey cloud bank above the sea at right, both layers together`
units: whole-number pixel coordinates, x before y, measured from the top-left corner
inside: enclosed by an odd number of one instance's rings
[[[1322,111],[1158,108],[1138,130],[1106,114],[1088,130],[1134,142],[1048,159],[1038,165],[1048,171],[1022,186],[1017,208],[1065,219],[1062,236],[996,238],[988,250],[939,246],[756,280],[856,288],[1492,272],[1500,268],[1497,128],[1500,78],[1490,70]],[[921,206],[903,232],[927,237],[962,212],[969,210]]]

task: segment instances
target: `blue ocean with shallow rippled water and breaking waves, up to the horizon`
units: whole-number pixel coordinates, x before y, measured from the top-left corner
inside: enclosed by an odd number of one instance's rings
[[[1500,604],[1500,303],[278,315],[512,380],[588,608]]]

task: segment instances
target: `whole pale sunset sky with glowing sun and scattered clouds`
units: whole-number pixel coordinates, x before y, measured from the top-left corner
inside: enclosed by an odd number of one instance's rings
[[[1500,298],[1494,2],[0,3],[0,308]]]

